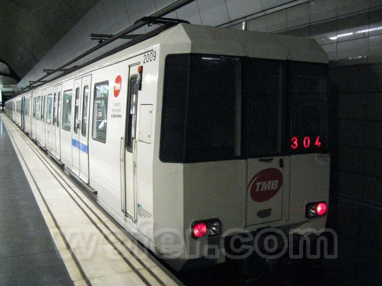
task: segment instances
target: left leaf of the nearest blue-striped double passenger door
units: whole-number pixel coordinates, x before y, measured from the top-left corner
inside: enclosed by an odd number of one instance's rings
[[[80,175],[80,142],[79,142],[79,116],[80,116],[81,78],[74,81],[74,116],[72,129],[72,171]]]

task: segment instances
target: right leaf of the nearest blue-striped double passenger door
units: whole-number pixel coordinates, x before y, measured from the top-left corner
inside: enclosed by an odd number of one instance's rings
[[[79,145],[80,145],[80,178],[89,183],[89,102],[90,102],[90,86],[92,75],[87,75],[82,78],[81,84],[81,112],[80,112],[80,131],[79,131]]]

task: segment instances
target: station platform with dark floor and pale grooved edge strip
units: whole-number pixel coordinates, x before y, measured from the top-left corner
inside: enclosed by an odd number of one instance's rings
[[[182,285],[0,115],[0,285]]]

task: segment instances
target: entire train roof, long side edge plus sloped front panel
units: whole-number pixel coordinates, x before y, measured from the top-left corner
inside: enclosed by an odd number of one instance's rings
[[[100,59],[97,61],[84,64],[75,71],[60,75],[18,96],[34,90],[42,90],[95,69],[123,61],[158,45],[183,46],[185,53],[328,63],[325,51],[314,39],[186,23],[174,25],[134,45],[128,45],[130,42],[113,49],[113,53],[107,52],[99,56]]]

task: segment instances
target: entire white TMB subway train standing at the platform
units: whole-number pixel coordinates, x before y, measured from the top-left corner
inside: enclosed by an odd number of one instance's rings
[[[156,255],[218,264],[234,233],[324,228],[327,63],[312,39],[179,23],[5,112]]]

